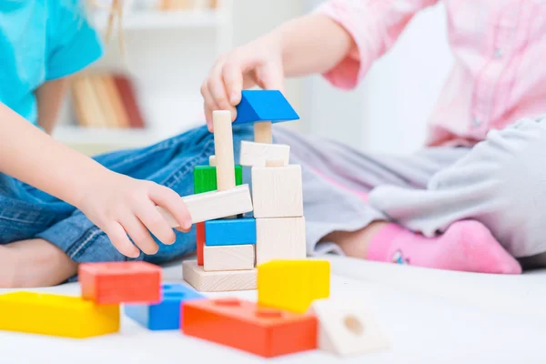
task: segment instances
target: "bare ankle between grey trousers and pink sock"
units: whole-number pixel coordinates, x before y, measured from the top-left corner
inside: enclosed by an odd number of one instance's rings
[[[357,231],[334,231],[322,240],[338,244],[349,257],[365,259],[368,255],[369,240],[387,224],[389,223],[386,221],[376,221]]]

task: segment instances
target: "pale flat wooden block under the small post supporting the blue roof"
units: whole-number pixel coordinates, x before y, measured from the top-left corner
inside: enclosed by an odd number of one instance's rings
[[[288,166],[290,147],[283,144],[254,143],[243,140],[239,164],[246,167],[266,167],[268,159],[282,160]]]

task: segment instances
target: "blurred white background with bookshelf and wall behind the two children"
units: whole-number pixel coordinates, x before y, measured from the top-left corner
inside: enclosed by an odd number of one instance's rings
[[[109,1],[96,3],[91,18],[106,33]],[[54,137],[95,154],[202,125],[199,87],[217,56],[320,3],[125,0],[123,47],[114,37],[106,56],[74,79]],[[337,90],[320,76],[289,80],[287,97],[301,120],[285,124],[370,152],[410,153],[423,145],[450,63],[445,10],[437,5],[410,22],[355,90]]]

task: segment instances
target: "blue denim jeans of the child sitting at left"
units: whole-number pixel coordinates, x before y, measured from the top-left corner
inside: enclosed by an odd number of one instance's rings
[[[233,130],[238,160],[240,141],[250,139],[252,129],[234,126]],[[212,154],[214,138],[203,126],[151,147],[117,151],[95,159],[118,173],[152,180],[187,196],[193,194],[193,168],[207,165]],[[248,177],[245,179],[248,183]],[[176,234],[175,244],[159,244],[156,255],[141,254],[137,259],[160,264],[195,251],[195,227],[188,233],[176,231]],[[28,238],[44,238],[76,262],[129,259],[76,207],[0,174],[0,244]]]

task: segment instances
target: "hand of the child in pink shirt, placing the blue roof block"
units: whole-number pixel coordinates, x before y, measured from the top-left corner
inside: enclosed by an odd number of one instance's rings
[[[281,91],[284,88],[279,35],[258,38],[218,58],[201,86],[208,129],[212,130],[214,110],[231,110],[235,119],[234,106],[241,100],[241,91],[256,85]]]

